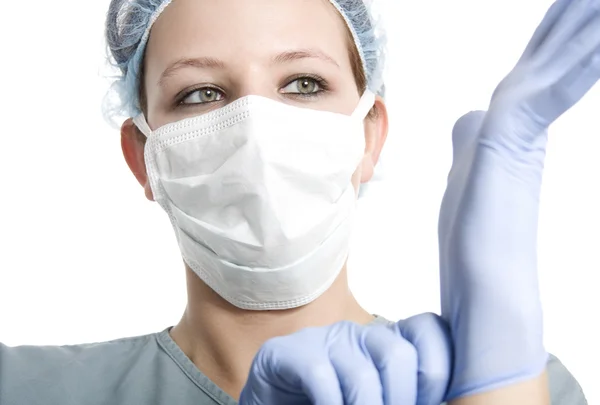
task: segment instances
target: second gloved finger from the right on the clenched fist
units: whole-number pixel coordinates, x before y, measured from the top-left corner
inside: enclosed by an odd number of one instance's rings
[[[415,404],[418,359],[413,345],[385,326],[369,327],[364,345],[378,370],[384,403]]]

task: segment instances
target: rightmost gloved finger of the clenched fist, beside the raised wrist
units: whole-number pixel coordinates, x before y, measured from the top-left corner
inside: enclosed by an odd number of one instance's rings
[[[452,373],[450,329],[441,317],[430,313],[408,318],[396,325],[419,354],[417,405],[441,404]]]

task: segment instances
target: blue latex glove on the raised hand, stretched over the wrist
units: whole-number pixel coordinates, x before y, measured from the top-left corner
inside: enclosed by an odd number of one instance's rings
[[[448,399],[540,375],[547,353],[536,239],[547,129],[600,77],[600,1],[559,0],[496,89],[460,119],[440,211]]]

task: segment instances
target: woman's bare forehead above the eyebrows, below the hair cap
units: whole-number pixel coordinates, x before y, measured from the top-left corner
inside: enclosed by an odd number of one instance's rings
[[[147,60],[161,70],[182,57],[267,59],[317,49],[348,65],[348,28],[328,0],[174,0],[152,28]]]

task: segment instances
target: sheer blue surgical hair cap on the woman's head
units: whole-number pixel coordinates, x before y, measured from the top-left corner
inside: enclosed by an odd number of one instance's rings
[[[111,64],[118,74],[104,103],[110,122],[141,113],[140,71],[150,29],[173,0],[111,0],[106,20],[106,41]],[[384,96],[385,33],[373,19],[370,0],[329,0],[340,12],[358,49],[367,88]],[[369,3],[369,4],[367,4]]]

